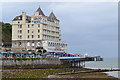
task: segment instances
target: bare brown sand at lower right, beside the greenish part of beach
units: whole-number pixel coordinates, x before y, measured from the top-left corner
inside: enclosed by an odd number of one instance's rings
[[[81,71],[88,71],[93,69],[81,69]],[[92,72],[92,73],[78,73],[78,74],[66,74],[66,75],[49,75],[48,78],[111,78],[116,80],[118,78],[110,76],[107,72]]]

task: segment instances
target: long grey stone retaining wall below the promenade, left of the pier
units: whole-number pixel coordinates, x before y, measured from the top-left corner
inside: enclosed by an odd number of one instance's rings
[[[40,60],[2,60],[3,67],[10,66],[42,66],[42,65],[61,65],[61,61],[58,59],[40,59]]]

